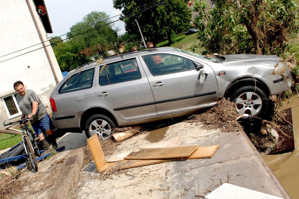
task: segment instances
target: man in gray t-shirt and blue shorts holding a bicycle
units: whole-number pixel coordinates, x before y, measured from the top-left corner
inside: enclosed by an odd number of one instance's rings
[[[13,84],[13,88],[18,93],[16,100],[22,110],[22,118],[26,116],[31,120],[31,126],[33,127],[36,135],[39,137],[39,141],[42,143],[45,151],[49,151],[49,144],[45,140],[44,133],[47,133],[49,140],[52,143],[52,148],[57,148],[57,143],[54,137],[54,124],[48,115],[42,101],[33,90],[26,90],[22,81],[16,81]]]

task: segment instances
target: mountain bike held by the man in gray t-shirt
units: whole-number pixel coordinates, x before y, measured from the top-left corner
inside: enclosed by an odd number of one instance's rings
[[[35,136],[33,131],[29,128],[28,122],[32,120],[29,118],[24,118],[20,119],[15,122],[10,122],[5,124],[6,120],[4,121],[3,125],[8,126],[8,125],[14,125],[14,124],[19,124],[22,130],[22,141],[23,141],[23,146],[25,149],[26,154],[28,155],[29,163],[31,165],[31,168],[33,168],[35,171],[38,170],[37,167],[37,162],[36,162],[36,157],[40,157],[40,150],[39,147],[36,143]],[[29,167],[30,168],[30,167]]]

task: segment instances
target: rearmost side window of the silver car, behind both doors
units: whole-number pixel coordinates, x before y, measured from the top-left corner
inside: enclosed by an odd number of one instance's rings
[[[82,90],[92,87],[94,68],[91,70],[79,71],[66,80],[60,87],[59,93]]]

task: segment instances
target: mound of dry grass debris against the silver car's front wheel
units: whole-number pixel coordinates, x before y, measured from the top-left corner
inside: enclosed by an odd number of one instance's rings
[[[238,116],[235,103],[222,99],[207,112],[195,115],[191,122],[201,122],[205,129],[220,129],[222,132],[231,132],[242,129],[239,122],[236,121]]]

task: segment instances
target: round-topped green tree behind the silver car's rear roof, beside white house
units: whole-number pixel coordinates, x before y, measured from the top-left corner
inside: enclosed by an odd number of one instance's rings
[[[102,57],[108,56],[109,50],[118,52],[118,34],[112,29],[112,23],[107,18],[109,15],[105,12],[92,11],[87,14],[82,21],[70,28],[67,37],[70,37],[71,45],[80,50],[88,49],[91,51],[89,53],[98,53]]]

